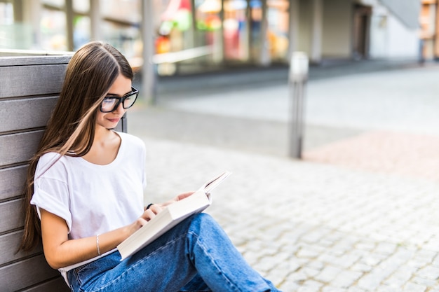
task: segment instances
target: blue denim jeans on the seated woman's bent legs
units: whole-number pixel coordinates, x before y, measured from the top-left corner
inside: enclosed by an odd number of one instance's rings
[[[196,214],[130,258],[118,251],[68,273],[72,291],[279,291],[245,262],[208,214]]]

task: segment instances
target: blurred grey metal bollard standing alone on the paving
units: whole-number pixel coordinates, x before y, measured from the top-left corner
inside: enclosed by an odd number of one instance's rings
[[[306,53],[292,53],[289,87],[291,96],[290,157],[302,158],[304,136],[304,93],[308,80],[309,61]]]

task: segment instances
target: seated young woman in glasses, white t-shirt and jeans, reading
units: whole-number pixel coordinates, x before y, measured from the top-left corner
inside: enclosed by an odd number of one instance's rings
[[[32,158],[20,249],[43,241],[72,291],[278,291],[245,263],[207,214],[189,217],[121,261],[116,246],[168,204],[143,207],[145,149],[112,130],[137,98],[118,50],[92,42],[67,67]]]

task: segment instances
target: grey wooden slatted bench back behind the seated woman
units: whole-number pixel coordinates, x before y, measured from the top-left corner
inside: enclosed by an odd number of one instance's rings
[[[10,55],[10,54],[9,54]],[[23,188],[59,96],[71,55],[0,55],[0,291],[69,291],[46,263],[41,244],[15,253],[22,237]],[[119,131],[126,132],[126,118]]]

